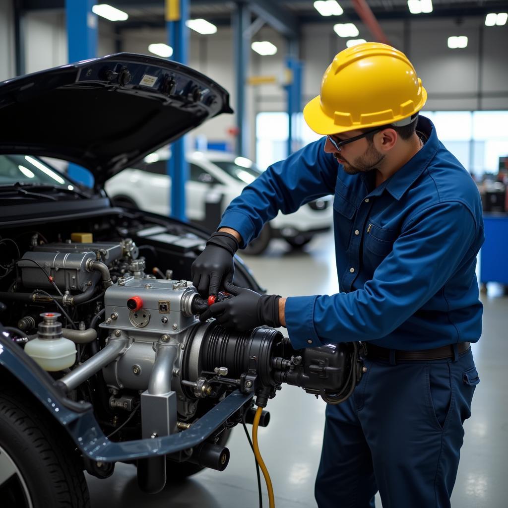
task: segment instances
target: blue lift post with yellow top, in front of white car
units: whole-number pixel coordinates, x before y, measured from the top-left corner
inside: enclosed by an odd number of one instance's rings
[[[172,60],[187,63],[188,0],[166,0],[166,29],[168,44],[173,48]],[[185,160],[185,139],[181,137],[171,145],[168,160],[168,175],[171,177],[170,215],[185,220],[185,182],[188,179],[188,164]]]

